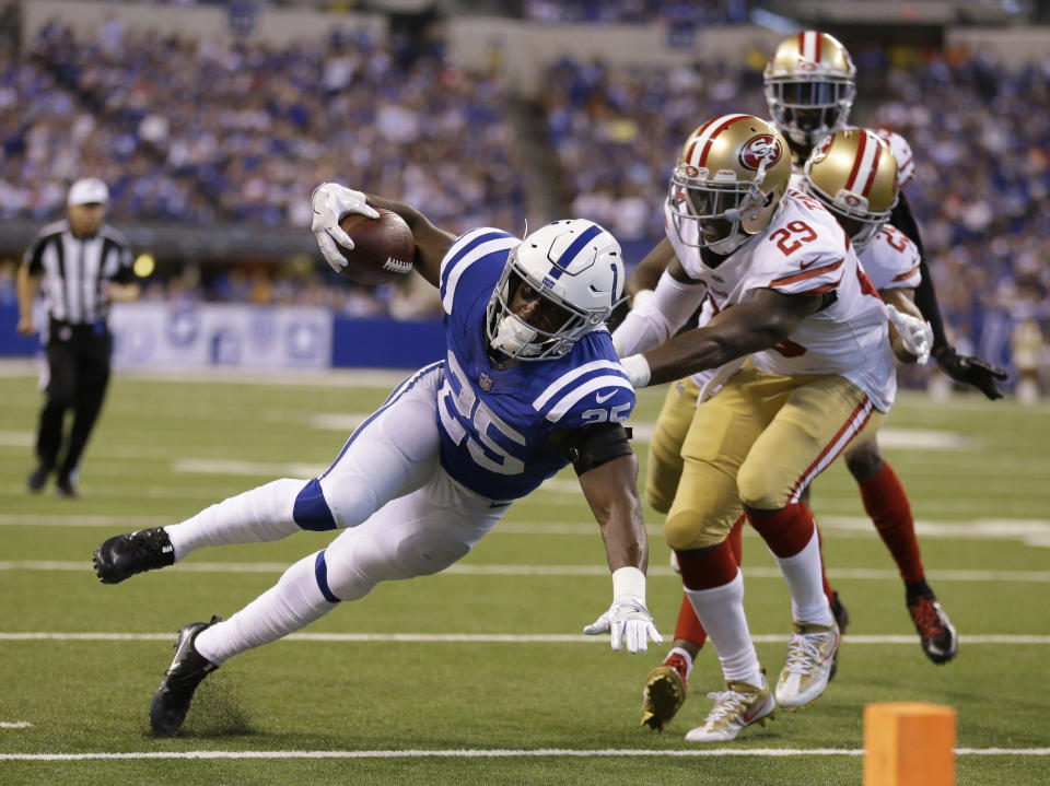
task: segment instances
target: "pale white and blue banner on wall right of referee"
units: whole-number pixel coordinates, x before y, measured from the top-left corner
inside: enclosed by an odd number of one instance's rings
[[[325,308],[234,304],[114,304],[117,368],[326,368],[332,316]]]

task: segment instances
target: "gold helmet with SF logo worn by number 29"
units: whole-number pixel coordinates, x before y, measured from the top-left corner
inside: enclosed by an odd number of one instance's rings
[[[686,246],[731,254],[765,230],[791,177],[788,141],[766,120],[724,115],[689,134],[667,208]]]

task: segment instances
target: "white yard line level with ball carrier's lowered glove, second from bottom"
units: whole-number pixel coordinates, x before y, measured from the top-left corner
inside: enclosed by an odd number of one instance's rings
[[[60,631],[0,632],[0,642],[171,642],[174,633],[63,633]],[[786,633],[760,633],[751,636],[757,644],[780,644],[788,641]],[[585,636],[574,633],[292,633],[285,642],[312,642],[325,644],[416,643],[416,644],[608,644],[603,636]],[[1050,635],[978,634],[961,635],[962,644],[1050,644]],[[852,635],[842,636],[850,645],[908,645],[917,638],[910,635]]]

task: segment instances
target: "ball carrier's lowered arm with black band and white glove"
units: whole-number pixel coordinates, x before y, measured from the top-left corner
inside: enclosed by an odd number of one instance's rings
[[[664,640],[645,607],[649,541],[638,498],[638,460],[619,424],[580,429],[565,444],[612,572],[612,603],[583,632],[610,634],[612,649],[626,646],[632,655],[644,653],[650,641],[661,644]]]

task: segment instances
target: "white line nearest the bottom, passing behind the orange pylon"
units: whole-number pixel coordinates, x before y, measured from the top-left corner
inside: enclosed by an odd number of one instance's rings
[[[1050,748],[956,748],[956,755],[1046,756]],[[646,750],[606,748],[481,749],[481,750],[364,750],[364,751],[133,751],[128,753],[0,753],[0,761],[85,761],[122,759],[523,759],[523,758],[724,758],[861,756],[863,748],[693,748]]]

